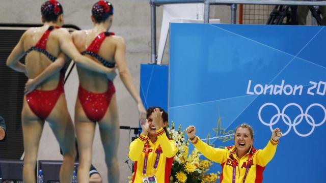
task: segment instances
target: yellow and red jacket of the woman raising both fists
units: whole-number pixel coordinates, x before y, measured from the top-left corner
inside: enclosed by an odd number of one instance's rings
[[[229,146],[222,148],[214,148],[209,146],[197,136],[192,141],[194,146],[202,153],[206,158],[216,163],[220,163],[222,166],[222,175],[220,177],[221,183],[230,183],[233,178],[233,165],[235,165],[235,182],[242,183],[244,175],[246,174],[247,163],[249,162],[249,154],[251,153],[251,166],[248,169],[246,183],[258,183],[262,182],[263,171],[267,163],[274,157],[276,147],[279,142],[270,139],[264,149],[256,150],[251,147],[249,153],[242,158],[238,158],[236,155],[236,147]]]

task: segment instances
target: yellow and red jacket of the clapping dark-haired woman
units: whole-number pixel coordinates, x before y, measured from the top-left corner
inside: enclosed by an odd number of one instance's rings
[[[143,168],[145,159],[145,143],[148,142],[148,160],[145,176],[155,175],[157,183],[169,183],[174,156],[177,154],[177,147],[174,140],[169,140],[163,128],[156,130],[157,140],[152,143],[147,136],[141,134],[138,139],[131,142],[129,146],[129,158],[134,161],[134,174],[132,182],[143,182]],[[161,149],[156,170],[154,163],[156,160],[156,151]]]

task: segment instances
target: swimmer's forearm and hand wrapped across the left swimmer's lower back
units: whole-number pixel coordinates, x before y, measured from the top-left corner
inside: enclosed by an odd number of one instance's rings
[[[55,62],[51,63],[41,74],[33,79],[29,79],[25,84],[25,94],[33,92],[33,90],[43,81],[50,78],[53,74],[58,73],[65,66],[66,56],[60,53]]]

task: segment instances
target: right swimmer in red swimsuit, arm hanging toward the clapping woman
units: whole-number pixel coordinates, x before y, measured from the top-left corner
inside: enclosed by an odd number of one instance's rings
[[[146,110],[125,61],[125,43],[122,37],[109,33],[113,6],[99,1],[92,7],[94,27],[72,34],[79,52],[107,68],[117,67],[120,78],[137,103],[140,120],[146,119]],[[79,148],[78,183],[85,181],[92,161],[92,146],[96,123],[99,125],[105,153],[108,182],[119,182],[117,149],[119,118],[115,87],[105,75],[78,67],[79,90],[75,106],[75,128]],[[96,123],[94,123],[96,122]]]

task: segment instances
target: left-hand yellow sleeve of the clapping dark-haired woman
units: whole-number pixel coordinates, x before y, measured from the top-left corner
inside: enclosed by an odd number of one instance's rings
[[[130,143],[128,156],[132,161],[140,160],[147,139],[147,135],[145,136],[141,134],[137,139]]]

